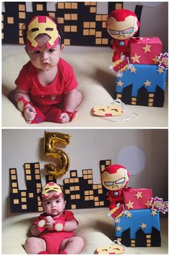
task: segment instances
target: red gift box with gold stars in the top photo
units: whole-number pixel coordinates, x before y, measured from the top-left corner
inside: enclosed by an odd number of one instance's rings
[[[129,43],[129,62],[132,64],[157,64],[162,52],[162,43],[158,37],[136,38]]]

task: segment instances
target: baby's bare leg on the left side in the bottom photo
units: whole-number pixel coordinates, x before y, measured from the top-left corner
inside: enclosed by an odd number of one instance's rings
[[[29,237],[25,241],[25,250],[28,255],[37,255],[46,252],[46,241],[38,237]]]

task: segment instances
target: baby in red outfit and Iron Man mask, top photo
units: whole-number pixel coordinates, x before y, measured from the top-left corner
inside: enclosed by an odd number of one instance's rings
[[[27,123],[68,123],[82,100],[75,73],[64,59],[56,22],[35,16],[23,31],[30,61],[15,80],[14,102]]]

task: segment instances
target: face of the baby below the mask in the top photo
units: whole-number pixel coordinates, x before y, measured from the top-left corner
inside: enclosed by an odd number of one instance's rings
[[[49,41],[49,37],[42,35],[36,38],[35,41],[38,42],[38,50],[35,50],[29,46],[25,47],[30,61],[38,70],[50,70],[56,67],[59,63],[59,58],[61,56],[61,51],[63,46],[60,44],[54,46],[51,49],[46,48],[46,43]]]

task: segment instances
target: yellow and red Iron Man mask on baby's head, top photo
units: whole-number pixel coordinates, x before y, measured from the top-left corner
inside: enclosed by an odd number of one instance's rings
[[[30,41],[30,46],[33,48],[37,48],[38,43],[35,41],[35,37],[40,34],[46,34],[50,37],[46,43],[47,48],[58,44],[59,32],[56,28],[56,23],[51,17],[35,16],[30,21],[27,28],[27,40]]]

